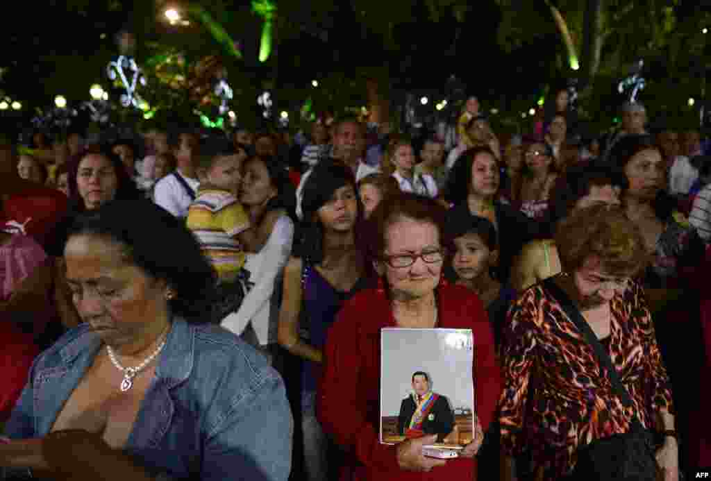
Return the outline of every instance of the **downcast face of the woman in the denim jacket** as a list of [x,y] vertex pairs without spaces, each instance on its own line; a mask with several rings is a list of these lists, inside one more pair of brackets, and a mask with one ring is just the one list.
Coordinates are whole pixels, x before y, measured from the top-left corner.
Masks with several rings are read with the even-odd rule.
[[124,249],[105,237],[69,238],[64,256],[77,312],[112,347],[140,340],[166,313],[166,284],[125,259]]

